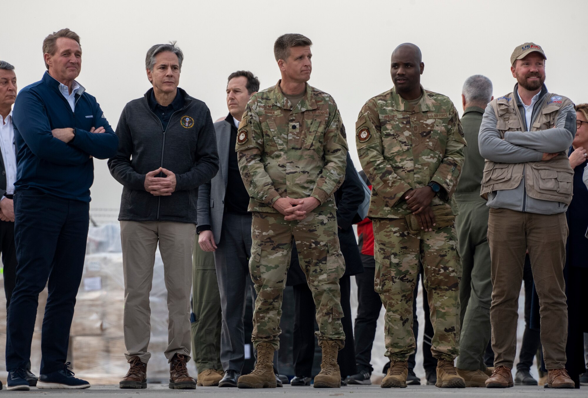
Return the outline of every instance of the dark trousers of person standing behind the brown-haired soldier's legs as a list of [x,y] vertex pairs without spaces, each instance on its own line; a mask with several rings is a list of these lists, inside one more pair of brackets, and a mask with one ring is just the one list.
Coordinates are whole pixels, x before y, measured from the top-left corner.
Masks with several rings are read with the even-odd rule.
[[[362,274],[359,274],[362,275]],[[351,321],[351,305],[349,303],[351,295],[351,279],[349,276],[343,276],[339,279],[341,291],[341,306],[343,308],[343,332],[345,332],[345,347],[339,350],[337,363],[341,377],[355,375],[357,368],[355,366],[355,347],[353,345],[353,325]],[[309,309],[315,308],[315,301],[308,285],[300,284],[292,286],[295,300],[294,315],[294,339],[293,339],[293,357],[294,372],[296,376],[314,376],[312,375],[312,362],[315,359],[315,311]]]

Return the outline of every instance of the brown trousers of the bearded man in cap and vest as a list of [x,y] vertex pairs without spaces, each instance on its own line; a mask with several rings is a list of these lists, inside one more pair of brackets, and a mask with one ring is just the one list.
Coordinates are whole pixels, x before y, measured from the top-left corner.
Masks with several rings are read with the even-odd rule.
[[563,266],[568,229],[566,214],[533,214],[490,208],[488,242],[492,257],[492,349],[494,366],[513,368],[516,326],[525,252],[541,316],[541,343],[547,369],[566,365],[567,305]]

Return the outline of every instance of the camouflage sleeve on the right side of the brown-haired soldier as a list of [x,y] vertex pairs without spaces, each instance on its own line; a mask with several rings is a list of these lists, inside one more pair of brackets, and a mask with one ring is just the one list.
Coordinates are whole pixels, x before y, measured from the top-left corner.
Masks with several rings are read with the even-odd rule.
[[325,166],[320,171],[312,194],[310,194],[318,199],[320,204],[323,204],[343,183],[347,164],[345,126],[343,126],[341,115],[336,106],[335,112],[329,112],[329,114],[331,116],[327,120],[328,126],[325,129],[323,141]]

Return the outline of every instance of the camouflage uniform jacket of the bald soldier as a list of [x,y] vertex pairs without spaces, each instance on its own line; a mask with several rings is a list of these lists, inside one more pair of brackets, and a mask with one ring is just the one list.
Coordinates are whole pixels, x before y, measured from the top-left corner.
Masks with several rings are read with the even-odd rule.
[[410,210],[402,194],[430,181],[443,187],[432,204],[449,202],[458,214],[452,195],[465,157],[462,126],[448,97],[420,88],[414,107],[392,88],[359,112],[356,143],[373,187],[370,217],[405,217]]

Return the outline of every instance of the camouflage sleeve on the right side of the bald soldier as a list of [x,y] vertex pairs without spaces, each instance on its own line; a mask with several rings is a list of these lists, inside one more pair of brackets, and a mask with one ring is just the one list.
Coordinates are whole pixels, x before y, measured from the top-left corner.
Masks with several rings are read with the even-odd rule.
[[463,162],[465,161],[466,140],[463,137],[462,123],[457,116],[457,110],[453,107],[452,117],[446,125],[447,145],[445,155],[437,171],[433,174],[431,181],[441,185],[445,192],[439,191],[442,200],[450,200],[457,188],[459,176],[462,173]]

